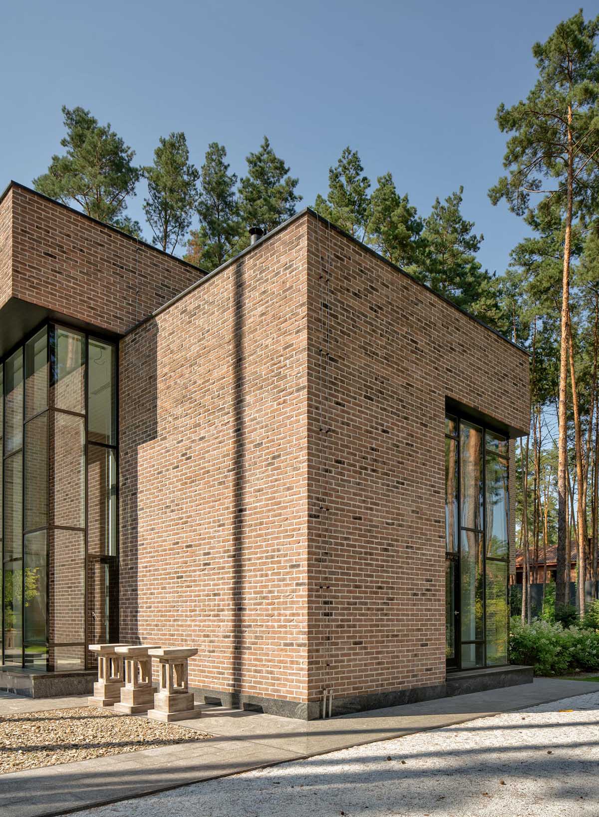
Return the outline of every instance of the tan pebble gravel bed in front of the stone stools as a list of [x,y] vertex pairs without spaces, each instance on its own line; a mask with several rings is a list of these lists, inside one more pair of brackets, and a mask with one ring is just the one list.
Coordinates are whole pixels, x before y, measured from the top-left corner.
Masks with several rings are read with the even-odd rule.
[[0,775],[208,737],[96,707],[19,712],[0,717]]

